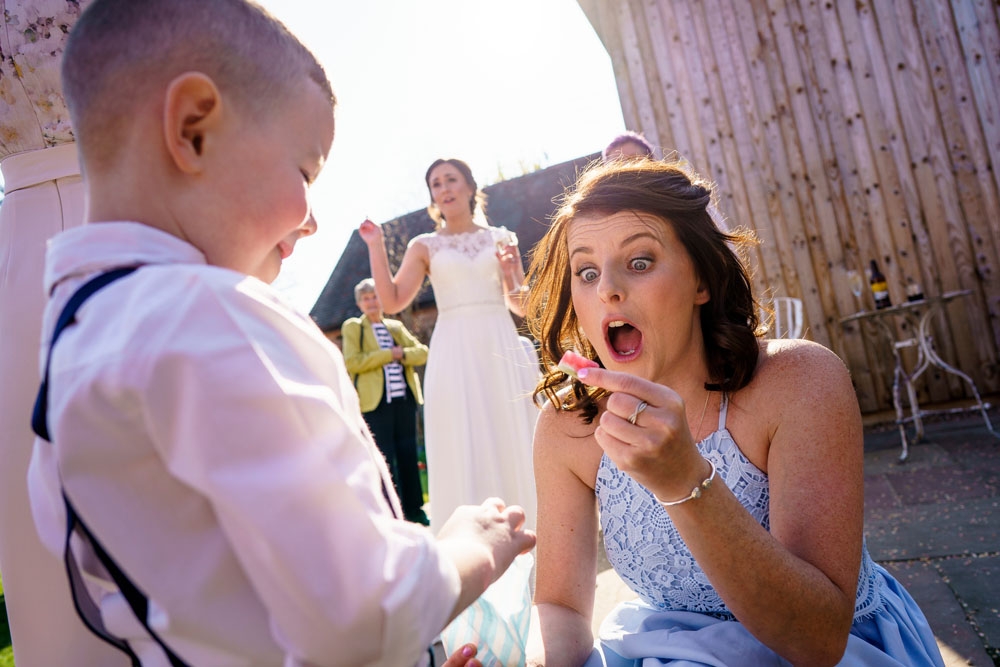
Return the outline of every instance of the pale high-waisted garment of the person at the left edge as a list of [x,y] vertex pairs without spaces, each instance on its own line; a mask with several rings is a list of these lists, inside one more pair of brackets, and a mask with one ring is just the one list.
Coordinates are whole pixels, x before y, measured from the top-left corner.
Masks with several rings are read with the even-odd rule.
[[0,168],[7,187],[0,204],[0,572],[14,659],[27,667],[126,665],[77,618],[62,561],[38,541],[28,504],[45,242],[83,221],[76,147],[19,153]]

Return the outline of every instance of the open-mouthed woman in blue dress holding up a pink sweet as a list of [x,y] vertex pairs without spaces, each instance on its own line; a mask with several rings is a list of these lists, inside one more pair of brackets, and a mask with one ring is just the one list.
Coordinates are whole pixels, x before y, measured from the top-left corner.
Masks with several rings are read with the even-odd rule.
[[[553,368],[535,434],[529,665],[942,665],[863,539],[847,369],[764,340],[711,188],[677,164],[585,173],[533,255],[529,322]],[[598,522],[638,595],[591,633]],[[567,567],[572,563],[572,567]]]

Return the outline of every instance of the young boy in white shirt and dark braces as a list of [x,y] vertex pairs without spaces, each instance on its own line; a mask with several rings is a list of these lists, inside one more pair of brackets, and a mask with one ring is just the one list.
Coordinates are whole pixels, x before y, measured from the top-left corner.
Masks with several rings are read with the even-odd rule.
[[81,285],[138,269],[53,347],[43,541],[75,511],[70,570],[143,665],[417,663],[534,535],[497,499],[437,540],[397,518],[342,357],[258,280],[316,229],[322,68],[244,0],[96,0],[63,80],[87,224],[49,247],[46,343]]

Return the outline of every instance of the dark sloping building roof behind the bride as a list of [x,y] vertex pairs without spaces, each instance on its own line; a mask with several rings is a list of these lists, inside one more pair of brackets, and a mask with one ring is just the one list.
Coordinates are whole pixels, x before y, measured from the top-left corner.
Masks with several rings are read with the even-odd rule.
[[[531,250],[548,229],[549,217],[556,209],[554,200],[576,182],[584,167],[599,158],[600,153],[585,155],[483,188],[488,197],[486,212],[490,224],[517,234],[525,266],[531,261]],[[382,230],[389,266],[395,272],[410,239],[434,231],[434,221],[426,209],[421,209],[383,223]],[[354,286],[369,276],[368,248],[355,229],[309,313],[320,329],[338,330],[348,317],[361,314],[354,303]],[[420,309],[433,303],[434,291],[425,280],[414,306]]]

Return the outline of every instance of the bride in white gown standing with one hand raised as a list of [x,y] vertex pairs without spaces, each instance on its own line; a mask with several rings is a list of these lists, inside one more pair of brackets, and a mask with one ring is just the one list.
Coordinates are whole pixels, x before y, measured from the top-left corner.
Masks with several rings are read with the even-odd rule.
[[408,306],[425,277],[434,288],[438,317],[424,374],[431,529],[488,496],[521,505],[533,528],[531,394],[539,371],[508,312],[524,314],[527,291],[516,236],[485,220],[485,196],[462,160],[436,160],[425,181],[437,228],[410,241],[395,275],[381,227],[365,220],[358,232],[387,313]]

